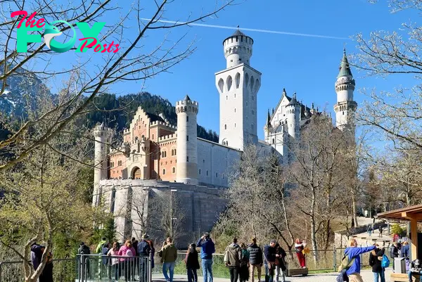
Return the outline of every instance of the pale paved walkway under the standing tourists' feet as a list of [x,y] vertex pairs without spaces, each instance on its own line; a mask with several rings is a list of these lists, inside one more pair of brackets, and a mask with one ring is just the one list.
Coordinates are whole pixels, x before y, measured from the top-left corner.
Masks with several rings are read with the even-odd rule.
[[[392,269],[385,270],[385,281],[390,281],[390,274]],[[228,271],[227,271],[228,272]],[[373,274],[370,269],[362,270],[361,272],[364,282],[372,282]],[[309,274],[308,276],[295,276],[295,277],[286,277],[286,282],[335,282],[335,278],[338,276],[338,273],[324,273],[324,274]],[[264,280],[264,276],[261,278]],[[227,278],[214,278],[213,282],[230,282],[230,279]],[[165,279],[162,275],[154,274],[153,281],[165,282]],[[175,275],[174,282],[184,282],[188,281],[186,275]],[[256,281],[256,279],[255,279]],[[202,276],[198,277],[198,282],[203,282]]]

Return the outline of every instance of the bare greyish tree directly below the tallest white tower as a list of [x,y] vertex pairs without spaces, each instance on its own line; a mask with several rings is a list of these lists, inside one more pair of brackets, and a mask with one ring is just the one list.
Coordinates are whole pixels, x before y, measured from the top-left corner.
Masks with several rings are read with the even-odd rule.
[[276,155],[248,146],[230,178],[229,208],[220,217],[217,230],[235,230],[233,235],[243,240],[279,237],[290,250],[294,236],[286,203],[288,186]]

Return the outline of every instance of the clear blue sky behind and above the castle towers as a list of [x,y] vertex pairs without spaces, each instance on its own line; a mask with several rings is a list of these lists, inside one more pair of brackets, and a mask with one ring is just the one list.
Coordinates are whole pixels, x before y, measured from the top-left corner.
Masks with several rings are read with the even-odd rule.
[[[150,1],[143,1],[146,2]],[[211,0],[175,1],[169,6],[166,20],[186,20],[188,12],[200,11],[203,2],[215,4]],[[362,32],[367,37],[371,31],[399,30],[401,23],[409,21],[409,13],[391,14],[388,4],[385,1],[379,2],[246,0],[226,8],[217,18],[207,19],[205,23],[232,27],[240,25],[241,30],[242,27],[247,27],[333,37],[351,37]],[[152,7],[143,8],[146,10],[141,16],[148,18],[148,11]],[[210,6],[205,6],[206,8]],[[172,103],[188,94],[200,105],[198,124],[219,132],[219,94],[215,88],[214,74],[225,68],[222,41],[233,32],[234,30],[210,27],[180,27],[171,30],[170,39],[186,34],[179,49],[195,40],[197,50],[190,58],[172,68],[172,73],[149,79],[143,90],[168,98]],[[343,44],[346,44],[347,53],[355,53],[356,42],[262,32],[245,31],[245,34],[255,41],[250,65],[262,72],[257,115],[261,139],[267,109],[276,106],[283,88],[290,95],[296,91],[299,101],[307,105],[314,102],[320,109],[326,108],[333,113],[336,102],[334,82],[343,56]],[[162,37],[163,32],[151,32],[144,42],[148,46],[161,41]],[[400,77],[364,78],[364,73],[359,73],[356,69],[352,69],[352,72],[356,79],[355,100],[358,104],[365,98],[359,94],[359,88],[376,87],[388,90],[403,82]],[[112,90],[119,94],[135,93],[140,90],[140,86],[141,83],[133,82],[116,84]]]

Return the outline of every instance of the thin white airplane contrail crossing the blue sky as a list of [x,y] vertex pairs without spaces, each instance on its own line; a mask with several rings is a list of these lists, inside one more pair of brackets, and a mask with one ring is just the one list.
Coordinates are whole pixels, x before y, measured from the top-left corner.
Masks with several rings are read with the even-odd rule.
[[[141,18],[141,20],[151,20],[151,18]],[[226,29],[226,30],[237,30],[238,27],[229,27],[226,25],[207,25],[204,23],[186,23],[186,22],[179,22],[179,21],[175,21],[175,20],[156,20],[156,22],[159,23],[172,23],[175,25],[192,25],[192,26],[196,26],[196,27],[213,27],[213,28],[222,28],[222,29]],[[298,32],[280,32],[280,31],[276,31],[276,30],[260,30],[260,29],[256,29],[256,28],[246,28],[246,27],[242,27],[242,30],[247,30],[250,32],[264,32],[264,33],[273,33],[273,34],[285,34],[285,35],[293,35],[293,36],[299,36],[299,37],[318,37],[318,38],[324,38],[324,39],[340,39],[340,40],[351,40],[350,38],[347,37],[331,37],[328,35],[319,35],[319,34],[307,34],[307,33],[298,33]]]

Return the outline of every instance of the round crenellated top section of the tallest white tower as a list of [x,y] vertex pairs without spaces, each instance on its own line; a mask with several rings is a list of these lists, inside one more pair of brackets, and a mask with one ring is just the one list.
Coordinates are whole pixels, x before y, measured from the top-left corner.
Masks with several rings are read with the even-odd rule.
[[253,39],[245,35],[240,30],[227,37],[223,41],[224,57],[226,57],[227,68],[245,63],[249,65],[252,56]]

